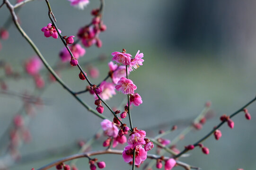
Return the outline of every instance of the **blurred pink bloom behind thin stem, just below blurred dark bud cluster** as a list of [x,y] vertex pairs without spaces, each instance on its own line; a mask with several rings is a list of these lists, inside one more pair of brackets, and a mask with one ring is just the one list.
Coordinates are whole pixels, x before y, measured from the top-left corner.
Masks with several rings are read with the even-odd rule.
[[[85,49],[82,48],[80,44],[70,45],[68,47],[76,59],[79,59],[79,57],[82,57],[86,52]],[[71,55],[66,47],[62,48],[59,56],[62,59],[62,62],[70,61],[71,59]]]

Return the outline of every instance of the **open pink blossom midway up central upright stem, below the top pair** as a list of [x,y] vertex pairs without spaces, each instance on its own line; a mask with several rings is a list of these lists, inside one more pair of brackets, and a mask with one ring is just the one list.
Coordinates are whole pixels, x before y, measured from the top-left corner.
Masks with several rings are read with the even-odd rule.
[[134,90],[137,89],[136,85],[133,84],[132,80],[125,77],[121,77],[115,86],[117,91],[121,91],[124,94],[133,94]]

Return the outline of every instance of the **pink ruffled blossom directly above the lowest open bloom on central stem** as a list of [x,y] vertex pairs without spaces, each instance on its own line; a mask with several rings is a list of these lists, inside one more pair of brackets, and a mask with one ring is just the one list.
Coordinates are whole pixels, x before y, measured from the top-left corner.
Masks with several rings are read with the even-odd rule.
[[133,129],[130,137],[128,139],[128,144],[134,148],[138,144],[146,144],[144,137],[146,136],[146,132],[144,130],[139,130],[136,127]]

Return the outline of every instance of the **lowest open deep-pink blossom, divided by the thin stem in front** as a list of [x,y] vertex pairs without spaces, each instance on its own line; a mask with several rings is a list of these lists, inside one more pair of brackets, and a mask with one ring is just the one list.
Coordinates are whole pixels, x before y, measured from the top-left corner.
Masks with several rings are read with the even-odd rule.
[[141,146],[141,144],[137,145],[135,148],[132,148],[132,145],[125,146],[123,151],[123,159],[126,163],[132,161],[133,150],[135,149],[135,165],[140,165],[141,161],[145,161],[147,159],[147,151]]

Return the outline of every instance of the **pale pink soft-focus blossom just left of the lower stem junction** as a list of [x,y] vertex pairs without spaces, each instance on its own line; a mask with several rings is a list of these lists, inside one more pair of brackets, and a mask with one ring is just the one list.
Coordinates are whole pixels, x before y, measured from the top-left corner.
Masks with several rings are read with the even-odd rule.
[[116,137],[118,135],[118,128],[110,120],[104,119],[100,124],[107,136]]

